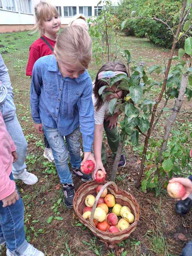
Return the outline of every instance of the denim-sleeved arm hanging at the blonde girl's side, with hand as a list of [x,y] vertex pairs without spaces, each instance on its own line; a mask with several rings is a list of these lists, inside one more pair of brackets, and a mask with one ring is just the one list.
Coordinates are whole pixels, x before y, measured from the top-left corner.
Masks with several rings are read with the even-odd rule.
[[41,61],[37,61],[33,68],[30,90],[31,116],[35,123],[34,126],[37,133],[43,133],[41,118],[39,115],[39,96],[41,94],[41,84]]

